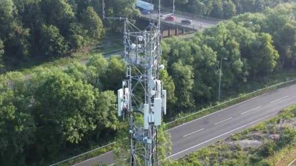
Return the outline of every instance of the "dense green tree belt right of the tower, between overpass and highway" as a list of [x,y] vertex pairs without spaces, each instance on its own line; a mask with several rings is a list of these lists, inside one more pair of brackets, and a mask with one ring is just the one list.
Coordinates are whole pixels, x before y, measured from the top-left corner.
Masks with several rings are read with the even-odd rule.
[[224,91],[240,91],[249,80],[295,70],[295,9],[283,4],[264,14],[245,13],[220,22],[189,40],[163,40],[162,60],[172,79],[164,86],[174,94],[168,100],[170,113],[217,100],[221,61]]

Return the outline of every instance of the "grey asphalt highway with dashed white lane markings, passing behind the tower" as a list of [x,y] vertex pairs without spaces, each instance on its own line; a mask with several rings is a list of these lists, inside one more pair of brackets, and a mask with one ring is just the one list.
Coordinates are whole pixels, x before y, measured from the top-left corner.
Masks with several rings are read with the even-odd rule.
[[[296,85],[243,101],[172,128],[168,132],[171,133],[173,146],[171,155],[167,158],[176,160],[192,151],[276,116],[280,110],[293,104],[296,104]],[[91,166],[95,163],[105,163],[112,166],[114,165],[113,161],[112,152],[108,152],[74,166]]]

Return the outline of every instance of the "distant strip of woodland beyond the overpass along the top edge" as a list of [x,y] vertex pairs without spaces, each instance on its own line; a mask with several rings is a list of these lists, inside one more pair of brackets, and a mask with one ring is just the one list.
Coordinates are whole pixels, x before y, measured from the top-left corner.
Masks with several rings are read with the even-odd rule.
[[[175,0],[175,9],[186,13],[229,19],[246,12],[263,12],[279,3],[292,0]],[[156,3],[157,0],[152,0]],[[165,8],[173,8],[173,0],[162,0]]]

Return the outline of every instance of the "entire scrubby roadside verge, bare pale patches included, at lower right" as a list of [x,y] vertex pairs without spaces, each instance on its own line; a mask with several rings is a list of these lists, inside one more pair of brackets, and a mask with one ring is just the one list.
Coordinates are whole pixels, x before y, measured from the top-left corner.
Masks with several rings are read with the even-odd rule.
[[270,120],[162,165],[287,166],[290,158],[286,160],[286,157],[293,156],[296,151],[295,124],[296,105],[282,110]]

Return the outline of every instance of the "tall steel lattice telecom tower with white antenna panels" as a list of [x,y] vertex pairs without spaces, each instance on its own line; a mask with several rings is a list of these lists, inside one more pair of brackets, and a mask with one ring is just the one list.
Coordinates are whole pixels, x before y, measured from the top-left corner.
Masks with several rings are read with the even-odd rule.
[[[130,166],[158,166],[157,127],[166,114],[166,90],[158,78],[159,70],[164,68],[159,65],[160,0],[157,18],[150,15],[149,25],[143,31],[128,18],[105,17],[104,0],[103,18],[124,21],[123,58],[127,79],[118,90],[118,116],[129,117]],[[143,117],[144,123],[134,118],[137,114]]]

